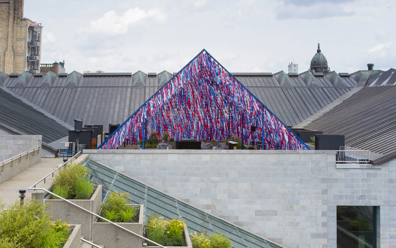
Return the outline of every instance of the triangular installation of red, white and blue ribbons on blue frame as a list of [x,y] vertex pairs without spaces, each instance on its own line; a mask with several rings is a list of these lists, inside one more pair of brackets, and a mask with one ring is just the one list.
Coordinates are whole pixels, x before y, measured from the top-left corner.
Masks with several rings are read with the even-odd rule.
[[[147,132],[145,132],[145,123]],[[256,126],[256,132],[250,132]],[[264,129],[264,130],[263,130]],[[309,150],[245,86],[202,50],[150,97],[97,149],[137,144],[157,131],[175,140],[264,139],[266,149]],[[263,132],[264,131],[264,132]]]

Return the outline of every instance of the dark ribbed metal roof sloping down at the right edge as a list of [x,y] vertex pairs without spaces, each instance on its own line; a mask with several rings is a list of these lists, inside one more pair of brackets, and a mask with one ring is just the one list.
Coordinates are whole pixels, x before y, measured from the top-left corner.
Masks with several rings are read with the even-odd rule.
[[365,78],[366,87],[305,128],[343,134],[347,146],[370,150],[375,160],[396,151],[396,85],[369,86],[376,78]]

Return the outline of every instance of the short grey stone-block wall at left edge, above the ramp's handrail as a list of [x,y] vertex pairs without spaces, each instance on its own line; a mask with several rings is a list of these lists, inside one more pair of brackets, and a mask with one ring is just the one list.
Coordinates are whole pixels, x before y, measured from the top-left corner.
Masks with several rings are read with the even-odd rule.
[[38,147],[41,141],[41,135],[0,135],[0,161]]

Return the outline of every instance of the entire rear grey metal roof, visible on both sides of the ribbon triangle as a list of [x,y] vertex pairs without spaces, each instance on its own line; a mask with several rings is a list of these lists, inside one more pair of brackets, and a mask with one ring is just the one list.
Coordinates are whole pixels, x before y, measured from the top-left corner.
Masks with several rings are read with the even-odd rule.
[[[43,76],[24,73],[7,77],[4,85],[61,120],[74,125],[74,118],[84,124],[121,124],[160,86],[171,78],[167,71],[158,74],[71,72],[68,76],[47,72]],[[234,73],[254,95],[287,126],[295,126],[344,93],[356,82],[331,72],[314,76],[309,71],[289,76],[272,73]]]

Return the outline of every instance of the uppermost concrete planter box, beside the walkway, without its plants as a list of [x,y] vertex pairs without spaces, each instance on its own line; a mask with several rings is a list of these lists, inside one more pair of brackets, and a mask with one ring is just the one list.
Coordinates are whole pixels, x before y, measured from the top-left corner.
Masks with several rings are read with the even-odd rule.
[[[95,192],[93,192],[89,200],[70,200],[70,202],[95,214],[99,213],[102,203],[102,185],[95,185],[94,189]],[[62,221],[66,221],[66,223],[80,224],[81,235],[92,240],[92,223],[96,217],[73,206],[69,202],[65,202],[64,200],[52,200],[49,199],[50,197],[51,195],[46,197],[45,203],[50,204],[48,210],[52,215],[51,220],[61,219]]]

